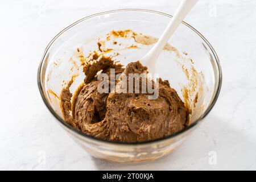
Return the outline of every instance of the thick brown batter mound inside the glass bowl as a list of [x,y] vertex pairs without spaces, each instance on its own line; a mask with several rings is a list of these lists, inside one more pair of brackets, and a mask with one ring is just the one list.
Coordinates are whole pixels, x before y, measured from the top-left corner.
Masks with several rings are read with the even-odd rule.
[[127,75],[146,72],[147,68],[139,61],[123,68],[109,57],[99,58],[97,54],[93,55],[92,61],[84,65],[84,84],[77,89],[72,102],[69,92],[72,81],[61,92],[61,108],[70,125],[94,137],[121,142],[154,140],[184,129],[187,109],[167,80],[159,79],[156,100],[148,100],[147,94],[143,93],[99,93],[98,71],[109,75],[110,68],[114,68],[115,74]]

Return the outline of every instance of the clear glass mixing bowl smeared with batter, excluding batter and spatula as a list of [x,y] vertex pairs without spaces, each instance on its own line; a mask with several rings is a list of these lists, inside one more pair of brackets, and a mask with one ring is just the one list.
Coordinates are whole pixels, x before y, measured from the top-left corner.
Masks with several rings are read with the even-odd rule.
[[[79,75],[76,76],[73,88],[71,87],[72,93],[84,79],[79,65],[73,64],[71,59],[77,48],[97,40],[100,35],[112,30],[129,29],[159,38],[171,18],[171,15],[151,10],[108,11],[71,24],[48,44],[38,70],[38,86],[43,101],[60,126],[90,155],[117,163],[158,159],[170,154],[179,146],[189,133],[199,126],[215,104],[222,80],[218,57],[204,36],[183,22],[169,41],[176,49],[172,49],[169,53],[168,51],[161,53],[156,71],[160,77],[170,81],[172,88],[177,90],[184,102],[193,107],[188,127],[166,138],[122,143],[94,138],[74,129],[64,121],[59,101],[60,92],[65,83],[71,80],[72,75]],[[122,56],[118,59],[124,65],[129,61],[139,60],[151,46],[122,52]],[[74,67],[77,69],[73,69]],[[188,88],[187,94],[185,94],[185,86]],[[189,87],[192,88],[191,92]],[[195,96],[196,93],[199,94]],[[192,101],[194,104],[191,103]]]

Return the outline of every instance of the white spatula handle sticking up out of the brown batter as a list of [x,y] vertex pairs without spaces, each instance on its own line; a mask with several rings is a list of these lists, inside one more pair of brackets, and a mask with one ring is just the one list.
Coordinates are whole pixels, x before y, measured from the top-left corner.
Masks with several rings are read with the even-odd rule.
[[174,34],[179,24],[185,18],[185,16],[189,13],[193,6],[199,0],[182,0],[178,9],[176,10],[173,18],[171,19],[170,23],[164,30],[162,36],[160,36],[158,42],[151,48],[151,50],[140,60],[143,65],[148,68],[149,73],[155,73],[155,64],[160,55],[160,52],[163,50],[166,43]]

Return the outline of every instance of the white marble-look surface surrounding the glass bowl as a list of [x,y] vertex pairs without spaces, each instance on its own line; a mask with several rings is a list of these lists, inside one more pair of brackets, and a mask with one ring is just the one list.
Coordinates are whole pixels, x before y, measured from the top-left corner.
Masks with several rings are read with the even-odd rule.
[[[84,16],[139,8],[173,14],[180,1],[92,0],[0,3],[0,169],[256,169],[256,1],[200,0],[185,19],[220,58],[220,97],[174,153],[149,164],[111,164],[83,151],[44,106],[36,73],[44,48]],[[210,165],[209,152],[217,164]],[[40,156],[46,163],[40,163]]]

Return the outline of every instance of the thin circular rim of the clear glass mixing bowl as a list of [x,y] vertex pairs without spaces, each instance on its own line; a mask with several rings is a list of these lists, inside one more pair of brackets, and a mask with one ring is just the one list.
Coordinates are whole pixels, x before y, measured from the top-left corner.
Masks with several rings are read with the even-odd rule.
[[[169,15],[169,14],[166,14],[166,13],[162,13],[160,11],[154,11],[154,10],[146,10],[146,9],[119,9],[119,10],[110,10],[110,11],[104,11],[104,12],[101,12],[101,13],[96,13],[96,14],[93,14],[93,15],[89,15],[89,16],[86,16],[85,18],[82,18],[80,20],[77,20],[75,23],[69,25],[68,27],[64,28],[62,31],[59,32],[59,34],[57,34],[52,40],[51,42],[49,42],[49,44],[47,45],[44,53],[43,53],[43,56],[42,56],[42,59],[40,61],[40,64],[39,64],[39,68],[38,68],[38,77],[37,77],[37,80],[38,80],[38,88],[39,88],[39,91],[40,91],[40,94],[43,98],[43,101],[44,101],[44,104],[46,104],[47,108],[49,109],[49,111],[52,113],[52,115],[57,119],[57,121],[59,121],[61,123],[61,125],[64,125],[64,127],[67,127],[68,130],[71,130],[73,132],[75,132],[76,134],[79,134],[81,137],[85,137],[85,138],[88,138],[88,139],[92,139],[92,140],[95,140],[95,142],[103,142],[103,143],[108,143],[108,144],[126,144],[126,145],[137,145],[137,144],[150,144],[150,143],[155,143],[155,142],[160,142],[160,141],[163,141],[163,140],[166,140],[166,139],[171,139],[171,138],[174,138],[176,137],[177,135],[180,135],[182,133],[185,133],[185,131],[188,131],[188,130],[191,130],[192,127],[195,127],[197,124],[199,124],[199,122],[201,122],[207,115],[208,113],[210,112],[210,110],[212,110],[214,104],[216,103],[217,101],[217,98],[218,98],[218,95],[220,94],[220,90],[221,90],[221,84],[222,84],[222,71],[221,71],[221,65],[220,65],[220,60],[218,59],[218,56],[216,54],[216,52],[214,51],[212,45],[208,42],[207,39],[204,38],[204,36],[202,34],[200,34],[199,31],[197,31],[195,28],[193,28],[191,25],[189,25],[188,23],[186,22],[182,22],[185,26],[187,26],[188,28],[190,28],[193,32],[195,32],[197,35],[200,36],[201,39],[203,39],[204,43],[208,45],[208,47],[210,48],[210,51],[212,51],[213,53],[213,56],[214,56],[214,61],[215,63],[217,64],[217,69],[218,69],[218,83],[217,83],[217,90],[213,96],[213,100],[212,102],[209,104],[208,108],[204,111],[203,114],[201,114],[200,118],[198,118],[196,121],[194,121],[191,125],[189,125],[188,127],[186,127],[185,129],[175,133],[175,134],[172,134],[172,135],[169,135],[167,137],[164,137],[164,138],[159,138],[159,139],[155,139],[155,140],[148,140],[148,141],[144,141],[144,142],[134,142],[134,143],[129,143],[129,142],[116,142],[116,141],[110,141],[110,140],[104,140],[104,139],[100,139],[100,138],[96,138],[96,137],[93,137],[91,135],[88,135],[86,133],[82,133],[82,131],[79,131],[75,128],[73,128],[72,126],[68,125],[67,122],[65,122],[61,117],[59,117],[59,115],[57,115],[55,113],[55,111],[52,109],[52,107],[48,104],[47,102],[47,99],[46,97],[44,96],[44,93],[43,93],[43,86],[42,86],[42,82],[41,82],[41,72],[42,72],[42,66],[43,66],[43,63],[45,61],[45,58],[46,58],[46,55],[47,55],[47,52],[49,50],[49,48],[52,46],[52,44],[55,42],[55,40],[61,35],[63,34],[65,31],[67,31],[69,28],[72,28],[73,26],[75,26],[76,24],[84,21],[84,20],[87,20],[89,18],[93,18],[95,16],[99,16],[99,15],[105,15],[105,14],[112,14],[112,13],[122,13],[122,12],[131,12],[131,11],[134,11],[134,12],[141,12],[141,13],[152,13],[152,14],[158,14],[158,15],[163,15],[163,16],[167,16],[168,18],[172,18],[172,15]],[[216,83],[215,83],[216,84]]]

